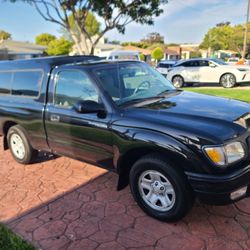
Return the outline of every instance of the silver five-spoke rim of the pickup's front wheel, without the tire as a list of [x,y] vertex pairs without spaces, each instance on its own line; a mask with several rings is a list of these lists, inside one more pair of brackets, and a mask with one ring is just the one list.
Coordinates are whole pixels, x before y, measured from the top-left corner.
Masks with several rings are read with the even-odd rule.
[[143,172],[138,179],[142,199],[153,209],[166,212],[175,204],[175,190],[166,176],[155,170]]

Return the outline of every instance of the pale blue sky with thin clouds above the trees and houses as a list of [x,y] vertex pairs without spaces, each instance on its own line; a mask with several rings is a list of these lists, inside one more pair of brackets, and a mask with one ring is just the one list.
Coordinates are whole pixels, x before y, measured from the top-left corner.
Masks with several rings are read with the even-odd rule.
[[[140,41],[150,32],[159,32],[166,43],[200,43],[216,23],[244,23],[247,0],[169,0],[163,9],[153,26],[131,23],[125,35],[112,30],[106,37],[110,41]],[[28,4],[0,0],[0,30],[11,33],[13,40],[34,42],[44,32],[60,36],[59,29]]]

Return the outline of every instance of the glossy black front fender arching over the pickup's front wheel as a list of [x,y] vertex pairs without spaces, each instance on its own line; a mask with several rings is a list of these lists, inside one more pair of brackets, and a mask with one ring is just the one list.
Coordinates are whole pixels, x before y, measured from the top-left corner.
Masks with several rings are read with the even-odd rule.
[[[152,130],[138,128],[113,128],[114,166],[120,176],[118,189],[128,183],[132,165],[141,157],[159,153],[183,172],[204,172],[206,166],[199,157],[183,143],[176,139]],[[203,169],[204,168],[204,169]]]

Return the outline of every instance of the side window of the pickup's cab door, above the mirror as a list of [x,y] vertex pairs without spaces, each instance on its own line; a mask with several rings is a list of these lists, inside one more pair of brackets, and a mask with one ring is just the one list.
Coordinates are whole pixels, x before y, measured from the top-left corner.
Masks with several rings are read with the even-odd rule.
[[54,103],[71,108],[80,100],[98,102],[98,93],[89,77],[81,71],[61,71],[57,75]]

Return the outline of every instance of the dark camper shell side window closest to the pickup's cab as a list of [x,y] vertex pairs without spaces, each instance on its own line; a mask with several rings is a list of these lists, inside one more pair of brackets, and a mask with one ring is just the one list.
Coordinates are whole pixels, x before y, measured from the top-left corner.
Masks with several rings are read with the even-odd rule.
[[42,71],[17,71],[13,74],[13,95],[38,96],[43,77]]

